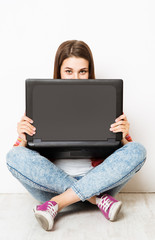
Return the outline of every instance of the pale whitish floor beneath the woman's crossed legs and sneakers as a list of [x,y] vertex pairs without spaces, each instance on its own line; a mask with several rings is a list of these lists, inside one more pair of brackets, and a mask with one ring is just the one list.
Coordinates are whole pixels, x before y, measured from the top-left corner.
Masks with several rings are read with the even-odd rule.
[[116,222],[107,221],[97,206],[76,203],[63,209],[51,232],[36,221],[38,202],[29,194],[0,194],[0,240],[154,240],[155,194],[120,193]]

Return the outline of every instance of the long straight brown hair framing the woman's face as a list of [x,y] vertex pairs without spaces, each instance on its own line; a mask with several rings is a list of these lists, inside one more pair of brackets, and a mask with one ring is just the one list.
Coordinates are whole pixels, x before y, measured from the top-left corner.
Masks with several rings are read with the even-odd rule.
[[89,62],[89,79],[95,79],[95,72],[94,72],[94,60],[92,52],[89,46],[83,42],[78,40],[69,40],[63,42],[55,55],[55,62],[54,62],[54,79],[60,79],[60,68],[63,61],[69,57],[80,57],[88,60]]

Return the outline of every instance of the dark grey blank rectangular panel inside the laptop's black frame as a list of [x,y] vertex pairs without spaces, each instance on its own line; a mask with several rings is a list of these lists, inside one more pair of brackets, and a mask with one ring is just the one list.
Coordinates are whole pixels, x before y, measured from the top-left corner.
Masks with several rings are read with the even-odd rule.
[[113,86],[36,85],[33,89],[34,138],[42,141],[107,140],[116,116]]

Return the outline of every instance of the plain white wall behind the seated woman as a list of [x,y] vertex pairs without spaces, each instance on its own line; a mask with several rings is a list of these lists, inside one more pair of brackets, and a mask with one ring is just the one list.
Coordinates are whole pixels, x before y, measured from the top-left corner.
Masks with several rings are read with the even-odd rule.
[[5,156],[25,111],[25,79],[52,78],[55,52],[68,39],[92,49],[97,78],[124,79],[124,112],[147,162],[124,191],[155,191],[154,0],[0,1],[0,192],[25,192]]

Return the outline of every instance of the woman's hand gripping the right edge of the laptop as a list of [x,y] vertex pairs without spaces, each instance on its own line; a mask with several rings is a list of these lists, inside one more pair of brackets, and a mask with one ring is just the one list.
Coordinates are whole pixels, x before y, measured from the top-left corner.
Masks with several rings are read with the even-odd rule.
[[126,118],[126,116],[123,114],[115,119],[115,123],[111,124],[110,131],[117,133],[122,132],[123,138],[129,133],[129,127],[130,124]]

